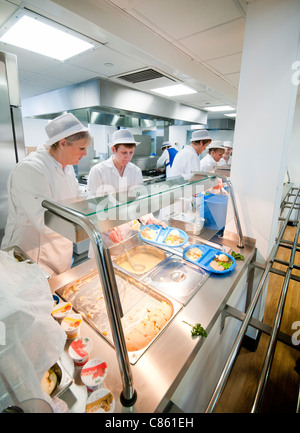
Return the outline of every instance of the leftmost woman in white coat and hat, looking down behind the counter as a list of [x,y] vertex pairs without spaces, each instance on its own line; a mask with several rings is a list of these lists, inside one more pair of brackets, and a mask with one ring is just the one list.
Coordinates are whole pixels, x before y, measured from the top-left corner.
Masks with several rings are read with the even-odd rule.
[[1,248],[19,246],[50,276],[71,267],[73,243],[44,224],[44,199],[59,202],[80,196],[73,165],[91,144],[87,128],[71,113],[45,127],[46,144],[31,152],[8,179],[8,218]]

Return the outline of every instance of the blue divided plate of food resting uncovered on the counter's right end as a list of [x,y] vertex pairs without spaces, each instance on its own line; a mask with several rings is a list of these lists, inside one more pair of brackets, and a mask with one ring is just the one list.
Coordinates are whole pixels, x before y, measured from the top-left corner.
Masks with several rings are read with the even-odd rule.
[[236,266],[236,261],[230,254],[202,244],[189,245],[183,251],[183,258],[216,274],[226,274]]

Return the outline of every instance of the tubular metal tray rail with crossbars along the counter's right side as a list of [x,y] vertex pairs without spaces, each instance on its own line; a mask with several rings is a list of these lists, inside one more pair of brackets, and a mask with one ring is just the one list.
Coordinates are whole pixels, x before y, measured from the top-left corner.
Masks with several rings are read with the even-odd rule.
[[[238,351],[241,347],[242,340],[243,340],[243,337],[247,331],[248,326],[251,325],[253,328],[255,328],[261,332],[264,332],[270,336],[269,345],[268,345],[268,348],[266,351],[266,356],[264,359],[264,363],[263,363],[260,379],[258,382],[257,391],[256,391],[256,395],[254,398],[251,413],[258,412],[259,408],[261,406],[263,394],[264,394],[264,391],[265,391],[265,388],[267,385],[267,381],[268,381],[271,366],[272,366],[272,361],[273,361],[277,341],[281,341],[284,344],[287,344],[287,345],[293,347],[294,349],[300,350],[299,345],[295,346],[292,344],[291,336],[284,334],[284,333],[280,332],[280,330],[279,330],[280,324],[282,321],[284,304],[285,304],[285,300],[286,300],[286,296],[287,296],[287,290],[288,290],[289,282],[290,282],[290,280],[295,280],[297,282],[300,282],[300,277],[298,277],[292,273],[293,269],[297,269],[297,270],[300,269],[300,266],[298,266],[294,263],[295,254],[296,254],[296,252],[300,251],[300,244],[297,242],[298,237],[299,237],[299,233],[300,233],[300,219],[299,218],[298,218],[298,221],[294,221],[294,223],[297,225],[294,241],[290,242],[290,241],[285,241],[283,239],[285,229],[286,229],[289,221],[291,220],[290,217],[291,217],[292,212],[295,211],[295,209],[296,210],[299,209],[299,206],[297,204],[299,197],[300,197],[299,188],[292,188],[286,197],[288,197],[288,199],[285,198],[283,200],[282,207],[288,208],[289,211],[288,211],[288,214],[286,215],[285,218],[282,218],[282,217],[279,218],[281,221],[283,221],[283,225],[280,229],[278,238],[277,238],[277,240],[276,240],[276,242],[272,248],[272,251],[271,251],[271,253],[270,253],[270,255],[266,261],[265,266],[262,266],[261,264],[255,263],[255,262],[252,263],[253,267],[257,267],[257,268],[262,269],[263,274],[261,276],[258,287],[256,289],[254,296],[253,296],[253,299],[246,310],[246,313],[243,313],[237,309],[234,309],[234,308],[230,307],[229,305],[226,305],[224,307],[224,311],[222,313],[223,314],[223,321],[226,319],[226,317],[234,317],[234,318],[242,321],[242,325],[241,325],[240,331],[237,335],[237,338],[233,344],[232,350],[229,354],[229,357],[227,359],[225,367],[224,367],[224,369],[220,375],[218,384],[217,384],[217,386],[213,392],[213,395],[211,397],[211,400],[210,400],[210,402],[206,408],[206,412],[213,412],[213,410],[214,410],[214,408],[215,408],[215,406],[216,406],[216,404],[217,404],[217,402],[221,396],[221,393],[222,393],[224,387],[226,386],[226,382],[227,382],[229,375],[230,375],[230,372],[233,368],[234,362],[236,360]],[[291,197],[294,197],[293,201],[290,201]],[[282,209],[282,211],[283,211],[283,209]],[[299,214],[298,214],[298,217],[299,217]],[[283,261],[276,259],[276,254],[277,254],[279,247],[284,247],[284,248],[288,248],[291,250],[289,262],[283,262]],[[281,270],[276,269],[275,267],[273,267],[274,263],[280,263],[280,264],[286,265],[287,270],[281,271]],[[263,292],[263,288],[265,286],[265,283],[267,281],[267,278],[268,278],[268,275],[270,272],[279,274],[279,275],[284,277],[284,282],[283,282],[282,289],[281,289],[280,299],[279,299],[279,302],[277,305],[277,311],[276,311],[276,315],[275,315],[272,327],[264,324],[263,322],[261,322],[259,320],[252,318],[254,309],[255,309],[256,304],[257,304],[257,302],[258,302],[258,300],[259,300],[259,298]],[[299,410],[300,410],[300,388],[299,388],[299,396],[298,396],[296,411],[299,412]]]

